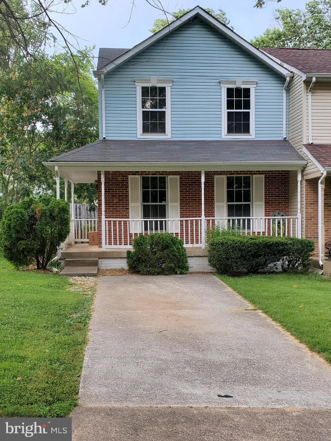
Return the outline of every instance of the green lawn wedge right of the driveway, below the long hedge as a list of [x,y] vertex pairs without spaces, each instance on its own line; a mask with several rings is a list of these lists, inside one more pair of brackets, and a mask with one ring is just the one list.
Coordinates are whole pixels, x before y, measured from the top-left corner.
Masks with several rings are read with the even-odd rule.
[[331,363],[331,280],[313,273],[218,277]]

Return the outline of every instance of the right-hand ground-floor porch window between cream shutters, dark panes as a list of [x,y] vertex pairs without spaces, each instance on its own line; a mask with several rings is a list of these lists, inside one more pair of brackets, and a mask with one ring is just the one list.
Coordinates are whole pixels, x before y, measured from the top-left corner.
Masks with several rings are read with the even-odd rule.
[[250,219],[252,211],[252,179],[251,176],[226,177],[226,202],[228,217],[232,228],[240,226],[243,229],[251,228]]

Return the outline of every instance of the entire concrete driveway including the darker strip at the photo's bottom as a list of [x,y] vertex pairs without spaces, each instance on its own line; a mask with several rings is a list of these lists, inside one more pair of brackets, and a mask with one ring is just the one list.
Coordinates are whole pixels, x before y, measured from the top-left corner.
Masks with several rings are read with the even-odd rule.
[[216,277],[100,277],[94,307],[73,441],[330,438],[330,366]]

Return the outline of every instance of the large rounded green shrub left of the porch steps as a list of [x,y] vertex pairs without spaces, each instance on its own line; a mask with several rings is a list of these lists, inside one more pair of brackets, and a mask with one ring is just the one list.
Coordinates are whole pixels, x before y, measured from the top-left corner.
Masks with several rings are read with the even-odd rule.
[[0,224],[0,250],[16,268],[36,263],[46,269],[70,232],[69,204],[51,197],[8,206]]

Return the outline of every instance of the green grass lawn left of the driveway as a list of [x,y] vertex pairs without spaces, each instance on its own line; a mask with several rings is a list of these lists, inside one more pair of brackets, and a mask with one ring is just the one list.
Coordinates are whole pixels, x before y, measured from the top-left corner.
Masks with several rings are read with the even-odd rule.
[[90,285],[0,257],[0,416],[63,417],[77,405]]

